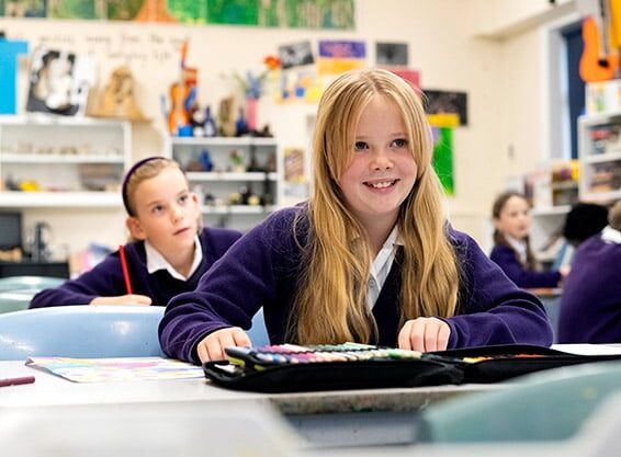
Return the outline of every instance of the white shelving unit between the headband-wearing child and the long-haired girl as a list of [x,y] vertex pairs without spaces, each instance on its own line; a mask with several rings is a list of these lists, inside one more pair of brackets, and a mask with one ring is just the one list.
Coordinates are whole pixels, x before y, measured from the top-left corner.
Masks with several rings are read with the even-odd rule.
[[[167,150],[187,171],[208,226],[247,231],[282,202],[283,161],[274,138],[170,137]],[[237,195],[251,197],[242,203]]]

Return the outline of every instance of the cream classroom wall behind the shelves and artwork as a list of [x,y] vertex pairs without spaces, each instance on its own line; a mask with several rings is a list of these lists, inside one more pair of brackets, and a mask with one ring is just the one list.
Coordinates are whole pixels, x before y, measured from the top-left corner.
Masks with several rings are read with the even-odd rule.
[[[490,31],[494,35],[516,22],[523,24],[524,18],[549,8],[543,0],[358,0],[354,32],[8,19],[0,20],[0,30],[9,38],[27,39],[32,47],[47,41],[50,47],[99,57],[102,79],[115,66],[128,62],[138,82],[139,103],[154,118],[151,125],[134,128],[135,159],[161,151],[159,94],[167,93],[177,77],[177,47],[184,38],[190,39],[188,65],[200,71],[200,100],[212,105],[235,90],[221,75],[257,71],[263,56],[275,54],[282,44],[308,39],[316,47],[321,38],[364,39],[372,66],[375,42],[406,42],[410,66],[420,70],[424,88],[467,92],[470,125],[454,132],[455,196],[449,199],[449,207],[454,226],[486,245],[494,194],[506,175],[534,168],[541,157],[540,106],[545,94],[539,80],[537,26],[504,39],[481,36],[489,37]],[[111,44],[92,44],[89,37],[105,37]],[[124,38],[139,44],[128,45]],[[262,100],[259,117],[271,123],[283,146],[305,147],[313,110]],[[512,159],[507,153],[509,146],[515,151]],[[80,212],[79,216],[60,209],[30,210],[25,222],[41,219],[52,222],[55,243],[69,244],[72,250],[92,240],[115,245],[125,238],[121,208]]]

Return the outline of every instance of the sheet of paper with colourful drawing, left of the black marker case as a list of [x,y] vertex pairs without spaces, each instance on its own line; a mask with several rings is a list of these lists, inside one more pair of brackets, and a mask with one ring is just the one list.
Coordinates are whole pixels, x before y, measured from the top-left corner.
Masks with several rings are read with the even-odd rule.
[[161,357],[29,357],[26,365],[48,370],[74,382],[181,379],[205,376],[199,366]]

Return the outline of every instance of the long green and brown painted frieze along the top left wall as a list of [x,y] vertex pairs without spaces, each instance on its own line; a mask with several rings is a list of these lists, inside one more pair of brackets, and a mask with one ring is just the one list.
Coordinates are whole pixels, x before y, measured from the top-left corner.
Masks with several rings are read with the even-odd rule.
[[0,16],[355,28],[354,0],[0,0]]

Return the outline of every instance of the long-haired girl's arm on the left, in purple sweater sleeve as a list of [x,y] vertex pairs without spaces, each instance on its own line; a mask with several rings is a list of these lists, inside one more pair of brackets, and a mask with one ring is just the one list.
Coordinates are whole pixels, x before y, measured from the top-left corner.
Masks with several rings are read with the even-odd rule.
[[[294,252],[291,219],[286,213],[284,218],[279,213],[240,238],[203,275],[194,292],[170,300],[159,325],[160,344],[167,355],[199,363],[211,352],[210,341],[219,341],[221,335],[229,343],[237,338],[245,343],[240,329],[250,328],[260,307],[279,301],[279,278],[287,270],[283,262]],[[286,312],[286,300],[281,301],[279,308],[283,309],[274,312]],[[216,335],[221,329],[227,332]],[[205,341],[212,334],[214,338]],[[222,355],[221,349],[213,346],[213,353]]]

